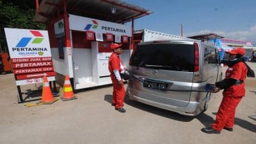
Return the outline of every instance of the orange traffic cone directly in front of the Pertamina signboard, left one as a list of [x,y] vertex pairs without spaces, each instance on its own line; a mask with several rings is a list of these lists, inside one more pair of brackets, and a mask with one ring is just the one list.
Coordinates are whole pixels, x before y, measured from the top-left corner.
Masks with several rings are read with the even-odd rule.
[[49,82],[47,77],[44,77],[44,83],[42,87],[42,100],[43,104],[52,104],[56,102],[58,99],[55,99],[51,93],[51,88],[49,87]]

